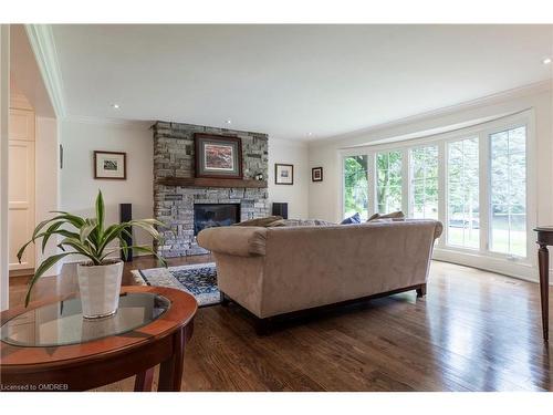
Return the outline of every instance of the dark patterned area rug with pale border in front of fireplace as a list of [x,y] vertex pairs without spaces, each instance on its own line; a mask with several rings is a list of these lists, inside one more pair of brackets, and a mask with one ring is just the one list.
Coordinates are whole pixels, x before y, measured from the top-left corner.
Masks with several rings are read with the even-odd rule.
[[171,287],[192,294],[198,305],[218,304],[217,268],[213,262],[132,271],[140,286]]

